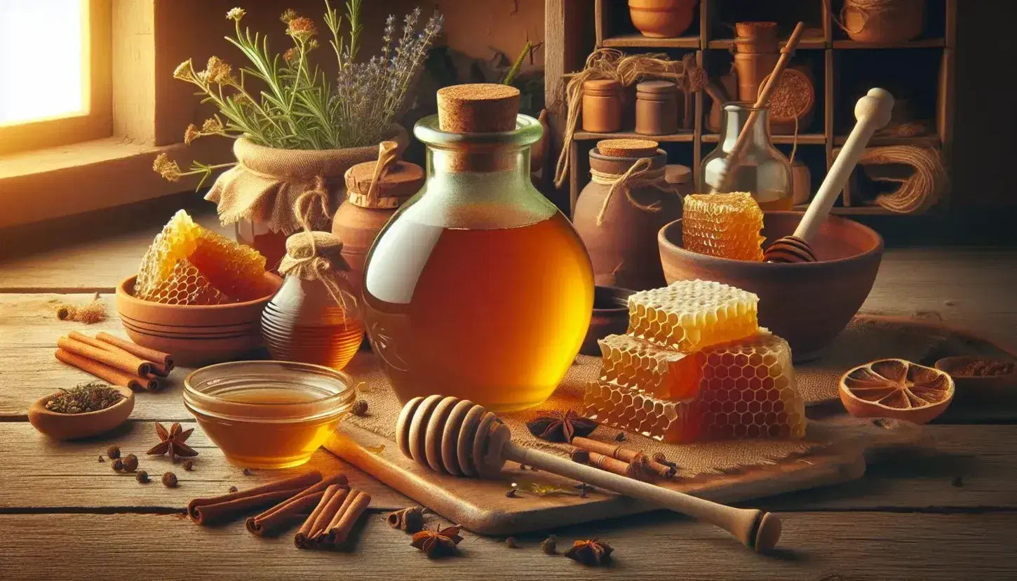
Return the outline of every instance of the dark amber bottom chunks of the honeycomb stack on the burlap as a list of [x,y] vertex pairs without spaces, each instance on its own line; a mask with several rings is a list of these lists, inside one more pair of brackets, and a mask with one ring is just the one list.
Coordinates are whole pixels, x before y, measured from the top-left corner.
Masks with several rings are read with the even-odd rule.
[[696,361],[702,376],[693,397],[667,400],[601,379],[587,386],[587,414],[672,444],[805,434],[805,407],[786,341],[763,331],[708,347]]

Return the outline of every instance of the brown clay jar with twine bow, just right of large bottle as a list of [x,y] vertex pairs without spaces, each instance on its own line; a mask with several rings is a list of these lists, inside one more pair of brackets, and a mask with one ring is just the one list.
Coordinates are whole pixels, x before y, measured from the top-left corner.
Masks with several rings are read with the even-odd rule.
[[657,232],[681,215],[681,198],[664,179],[665,164],[667,154],[649,139],[605,139],[590,151],[592,180],[580,193],[573,224],[596,284],[664,286]]

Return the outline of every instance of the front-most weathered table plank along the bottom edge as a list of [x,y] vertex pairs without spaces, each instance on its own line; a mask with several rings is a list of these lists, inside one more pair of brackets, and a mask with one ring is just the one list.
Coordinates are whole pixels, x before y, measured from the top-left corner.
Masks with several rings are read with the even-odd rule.
[[[1017,515],[784,514],[778,553],[761,556],[726,533],[666,514],[554,531],[558,545],[599,537],[611,567],[591,570],[538,547],[543,534],[503,539],[464,533],[462,556],[429,561],[376,512],[350,551],[307,551],[292,532],[257,538],[240,524],[195,526],[175,516],[0,515],[0,578],[311,579],[1013,579]],[[59,542],[56,541],[59,537]],[[41,553],[40,547],[59,546]],[[1011,548],[1007,548],[1011,547]],[[511,573],[510,573],[511,571]]]

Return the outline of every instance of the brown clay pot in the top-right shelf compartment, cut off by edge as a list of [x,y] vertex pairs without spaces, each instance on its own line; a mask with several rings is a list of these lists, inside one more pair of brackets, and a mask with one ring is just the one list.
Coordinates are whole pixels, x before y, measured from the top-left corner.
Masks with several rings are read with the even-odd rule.
[[844,0],[844,32],[859,43],[905,43],[921,34],[925,0]]

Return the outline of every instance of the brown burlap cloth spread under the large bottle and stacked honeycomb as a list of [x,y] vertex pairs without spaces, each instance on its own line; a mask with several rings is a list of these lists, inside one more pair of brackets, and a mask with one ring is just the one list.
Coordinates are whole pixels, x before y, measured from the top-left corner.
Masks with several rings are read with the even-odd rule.
[[[855,318],[829,347],[820,359],[795,365],[798,389],[805,405],[838,398],[837,386],[847,369],[884,357],[921,360],[945,337],[928,329],[907,327],[878,319]],[[360,353],[347,368],[358,382],[364,382],[361,398],[367,400],[369,415],[347,416],[346,422],[367,429],[382,438],[396,440],[396,420],[402,405],[396,399],[388,382],[370,353]],[[583,392],[587,382],[600,371],[600,358],[580,355],[554,395],[541,409],[575,409],[583,411]],[[567,455],[570,447],[544,442],[530,434],[526,422],[536,411],[502,414],[512,428],[513,440],[523,446]],[[818,425],[818,424],[817,424]],[[618,430],[598,427],[591,439],[612,442]],[[699,444],[662,444],[638,433],[625,434],[626,447],[648,454],[663,452],[678,464],[678,475],[692,478],[702,474],[734,472],[747,466],[771,464],[778,460],[816,452],[830,445],[822,429],[810,427],[803,440],[739,440]]]

